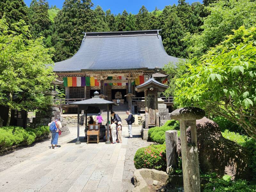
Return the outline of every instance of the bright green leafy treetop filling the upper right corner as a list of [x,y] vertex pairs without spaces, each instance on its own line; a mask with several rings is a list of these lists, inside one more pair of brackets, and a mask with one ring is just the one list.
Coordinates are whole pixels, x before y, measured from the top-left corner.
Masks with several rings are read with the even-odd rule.
[[190,38],[189,52],[201,56],[232,34],[232,29],[251,27],[256,23],[255,9],[256,3],[251,0],[220,0],[208,7],[211,14],[204,19],[204,31]]

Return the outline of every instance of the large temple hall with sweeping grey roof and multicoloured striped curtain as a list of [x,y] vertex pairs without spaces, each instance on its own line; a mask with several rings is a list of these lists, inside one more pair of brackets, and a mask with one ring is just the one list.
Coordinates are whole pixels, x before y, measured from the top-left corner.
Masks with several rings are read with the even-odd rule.
[[[179,62],[179,58],[165,52],[159,31],[84,33],[76,54],[54,66],[53,71],[65,87],[65,100],[91,98],[97,90],[106,100],[113,101],[120,92],[120,100],[133,113],[144,100],[135,86],[156,72],[162,73],[165,64]],[[161,76],[161,83],[166,81],[167,76]],[[72,105],[62,107],[65,113],[76,112]]]

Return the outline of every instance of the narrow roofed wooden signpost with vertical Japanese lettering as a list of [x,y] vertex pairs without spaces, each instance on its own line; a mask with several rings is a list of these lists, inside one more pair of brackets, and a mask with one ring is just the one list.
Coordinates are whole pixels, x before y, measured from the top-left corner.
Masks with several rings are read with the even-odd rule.
[[145,94],[145,128],[159,126],[158,113],[158,92],[164,92],[167,85],[159,83],[154,78],[148,79],[145,83],[135,87],[137,92]]

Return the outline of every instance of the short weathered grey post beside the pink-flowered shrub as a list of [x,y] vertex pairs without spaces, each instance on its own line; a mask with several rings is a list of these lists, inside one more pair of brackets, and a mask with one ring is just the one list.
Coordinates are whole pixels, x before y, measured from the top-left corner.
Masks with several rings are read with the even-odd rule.
[[172,168],[177,167],[177,143],[178,136],[176,130],[169,130],[165,132],[165,143],[166,143],[166,163],[167,167],[172,166]]

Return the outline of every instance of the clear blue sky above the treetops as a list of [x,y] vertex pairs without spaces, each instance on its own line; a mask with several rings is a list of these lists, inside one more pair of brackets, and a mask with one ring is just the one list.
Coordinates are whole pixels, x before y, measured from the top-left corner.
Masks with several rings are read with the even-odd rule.
[[[201,2],[202,0],[187,0],[188,3]],[[29,6],[31,0],[24,0],[24,2]],[[62,8],[64,0],[48,0],[49,5],[56,5],[58,8]],[[122,13],[124,9],[130,13],[137,14],[142,5],[145,5],[148,11],[153,11],[155,7],[158,9],[163,9],[166,5],[177,4],[178,0],[92,0],[94,6],[100,5],[104,11],[110,9],[112,13],[118,14]]]

